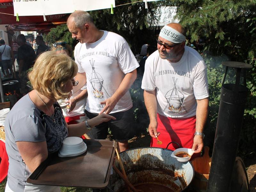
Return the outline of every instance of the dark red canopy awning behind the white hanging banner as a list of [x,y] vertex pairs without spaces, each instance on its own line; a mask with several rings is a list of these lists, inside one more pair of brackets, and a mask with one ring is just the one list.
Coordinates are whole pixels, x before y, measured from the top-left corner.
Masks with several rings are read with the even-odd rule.
[[9,24],[8,28],[15,31],[49,31],[56,25],[67,21],[69,14],[46,15],[43,16],[19,16],[20,21],[16,21],[13,15],[12,0],[0,0],[0,25]]

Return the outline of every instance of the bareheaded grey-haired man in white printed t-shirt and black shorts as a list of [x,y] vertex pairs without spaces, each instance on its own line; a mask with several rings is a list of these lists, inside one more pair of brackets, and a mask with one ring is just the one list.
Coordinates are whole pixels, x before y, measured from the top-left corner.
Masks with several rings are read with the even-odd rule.
[[92,118],[106,113],[116,117],[115,121],[93,128],[94,139],[106,139],[109,127],[120,151],[124,151],[134,133],[129,88],[136,79],[139,64],[125,39],[96,28],[89,13],[73,12],[67,25],[72,37],[79,41],[74,51],[78,65],[76,80],[81,83],[86,76],[86,115]]

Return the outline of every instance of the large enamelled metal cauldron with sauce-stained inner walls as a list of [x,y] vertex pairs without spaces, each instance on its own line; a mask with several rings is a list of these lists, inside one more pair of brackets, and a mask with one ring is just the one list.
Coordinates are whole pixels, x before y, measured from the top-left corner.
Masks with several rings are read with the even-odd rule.
[[[141,186],[149,183],[158,186],[157,190],[152,191],[159,189],[161,192],[180,192],[193,180],[194,167],[189,161],[177,161],[171,154],[171,150],[163,148],[135,148],[120,153],[120,157],[127,179],[135,188],[140,186],[138,189],[143,190]],[[117,158],[115,165],[121,170]],[[115,192],[127,190],[124,181],[115,171],[110,177],[108,188]],[[149,189],[144,189],[145,192],[150,192]]]

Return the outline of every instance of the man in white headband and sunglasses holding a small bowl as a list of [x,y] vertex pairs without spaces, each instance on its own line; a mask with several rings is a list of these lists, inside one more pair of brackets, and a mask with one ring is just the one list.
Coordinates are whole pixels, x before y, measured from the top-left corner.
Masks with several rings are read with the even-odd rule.
[[150,146],[165,148],[172,141],[195,150],[193,157],[200,156],[209,102],[204,60],[185,45],[185,29],[178,23],[165,25],[156,41],[158,50],[146,60],[141,86],[150,118]]

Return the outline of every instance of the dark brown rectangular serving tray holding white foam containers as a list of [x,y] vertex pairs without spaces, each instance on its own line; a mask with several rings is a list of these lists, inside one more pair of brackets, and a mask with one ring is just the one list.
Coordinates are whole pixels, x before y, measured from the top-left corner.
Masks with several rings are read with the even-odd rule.
[[75,157],[54,153],[40,164],[27,182],[37,185],[105,188],[117,143],[110,140],[84,140],[87,151]]

